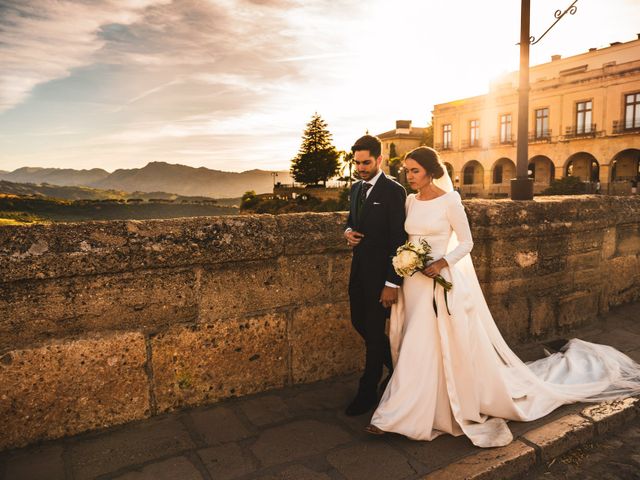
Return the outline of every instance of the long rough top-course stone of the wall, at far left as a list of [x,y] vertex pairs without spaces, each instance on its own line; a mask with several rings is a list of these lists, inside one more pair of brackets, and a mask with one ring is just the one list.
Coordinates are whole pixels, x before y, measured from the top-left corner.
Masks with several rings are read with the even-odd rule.
[[8,226],[0,282],[256,260],[283,249],[272,215]]

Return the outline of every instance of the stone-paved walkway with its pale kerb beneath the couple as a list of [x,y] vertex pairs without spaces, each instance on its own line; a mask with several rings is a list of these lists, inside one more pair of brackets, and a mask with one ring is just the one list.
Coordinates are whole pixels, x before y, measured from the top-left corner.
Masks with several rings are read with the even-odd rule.
[[[627,305],[572,336],[640,356],[638,319],[640,303]],[[526,360],[542,354],[538,343],[515,350]],[[363,432],[368,416],[343,413],[356,388],[348,375],[2,452],[0,480],[521,478],[640,420],[640,401],[625,399],[510,422],[515,441],[501,448],[480,449],[464,436],[372,437]]]

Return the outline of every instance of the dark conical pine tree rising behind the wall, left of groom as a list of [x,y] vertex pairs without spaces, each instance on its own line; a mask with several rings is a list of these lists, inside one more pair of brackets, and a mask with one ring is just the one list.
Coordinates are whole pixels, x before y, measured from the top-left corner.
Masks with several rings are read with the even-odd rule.
[[291,161],[291,174],[296,182],[317,185],[338,173],[339,153],[331,143],[327,123],[314,113],[302,135],[298,155]]

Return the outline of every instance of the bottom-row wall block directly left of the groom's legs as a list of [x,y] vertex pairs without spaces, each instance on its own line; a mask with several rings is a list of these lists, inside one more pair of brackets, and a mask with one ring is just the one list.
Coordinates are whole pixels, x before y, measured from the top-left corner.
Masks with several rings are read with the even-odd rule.
[[347,302],[296,309],[289,341],[295,383],[353,372],[363,365],[364,343],[351,325]]

